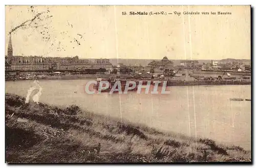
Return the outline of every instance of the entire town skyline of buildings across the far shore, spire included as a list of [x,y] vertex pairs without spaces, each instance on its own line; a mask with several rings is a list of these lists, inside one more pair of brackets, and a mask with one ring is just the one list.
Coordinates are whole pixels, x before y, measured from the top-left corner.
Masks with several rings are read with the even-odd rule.
[[[109,59],[95,59],[94,62],[88,59],[75,57],[42,57],[42,56],[13,56],[11,36],[8,44],[8,54],[5,57],[5,69],[7,71],[44,71],[44,70],[83,70],[83,69],[107,69],[109,73],[120,70],[121,68],[131,68],[133,71],[157,71],[162,73],[165,69],[236,69],[250,71],[250,65],[244,62],[225,59],[221,61],[212,60],[207,63],[199,63],[198,60],[182,60],[180,65],[174,67],[174,62],[163,57],[160,61],[152,61],[146,67],[126,66],[119,64],[117,67],[110,63]],[[127,69],[124,69],[126,71]]]

